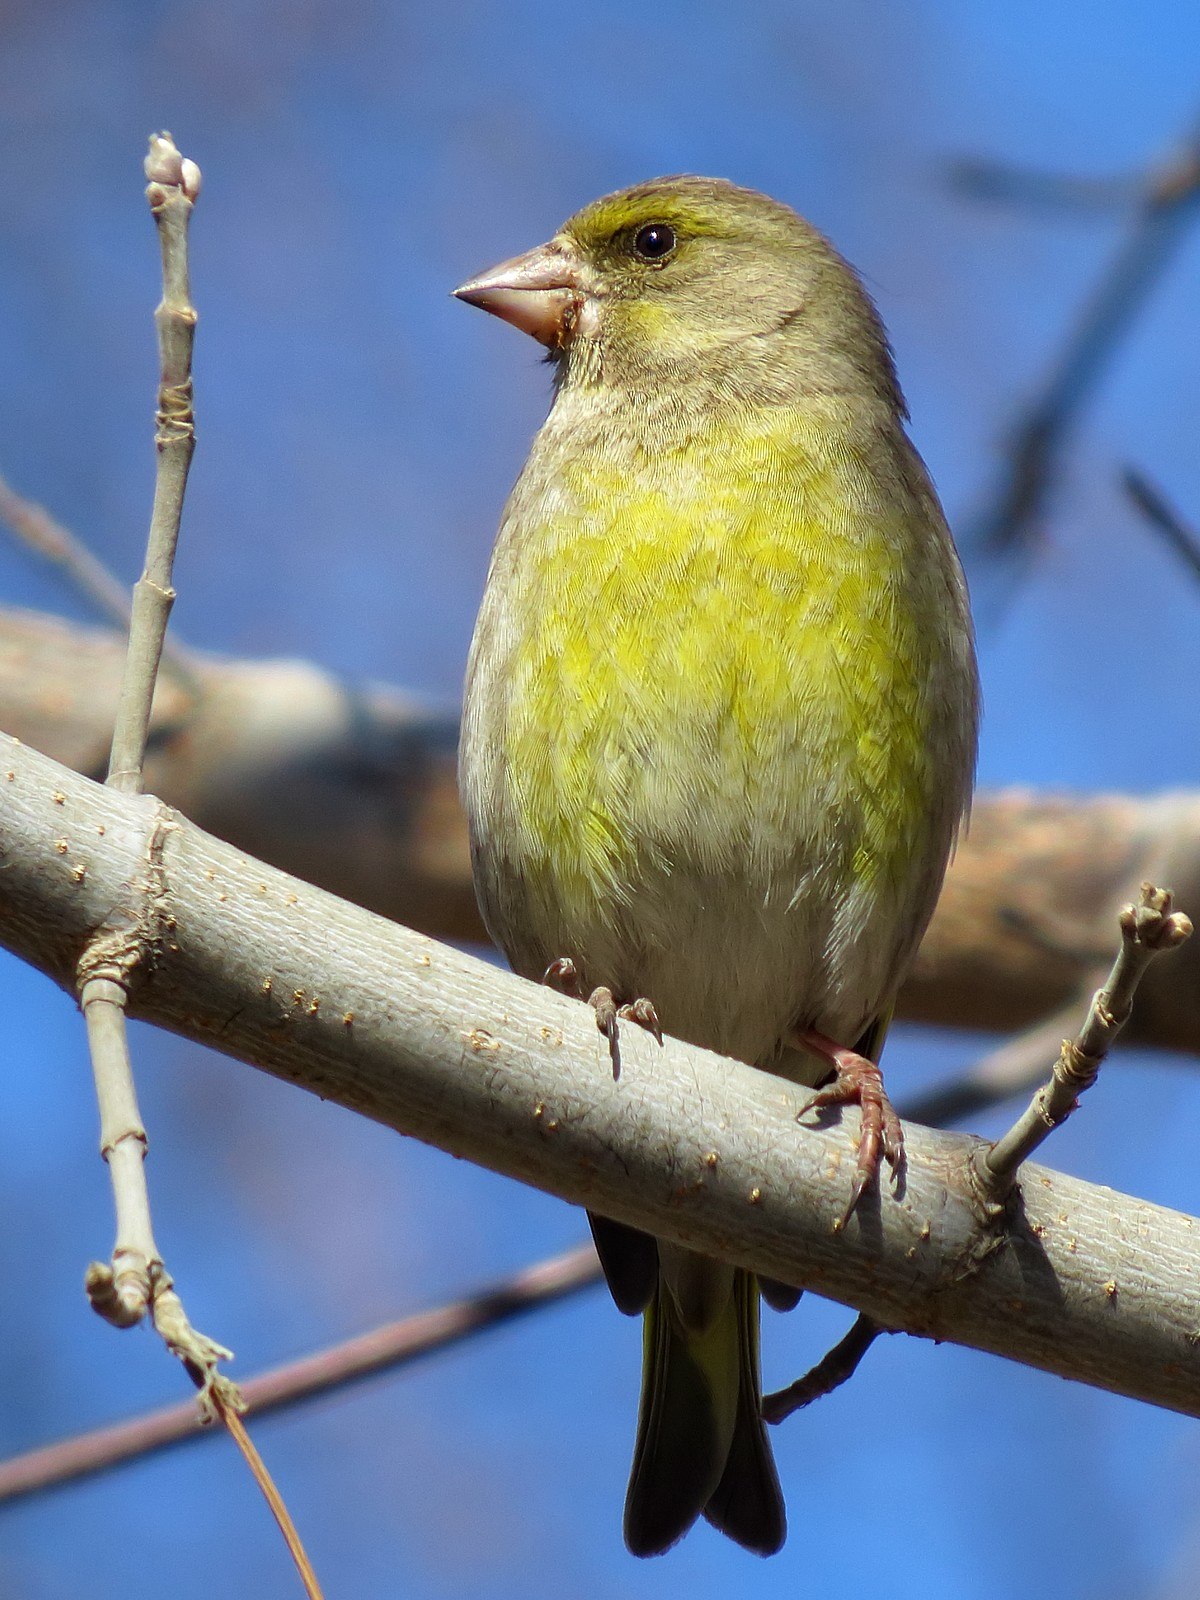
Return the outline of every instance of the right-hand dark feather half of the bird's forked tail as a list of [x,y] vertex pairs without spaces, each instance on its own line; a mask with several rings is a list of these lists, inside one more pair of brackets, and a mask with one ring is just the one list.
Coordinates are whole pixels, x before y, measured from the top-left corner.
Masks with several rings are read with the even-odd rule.
[[741,1374],[738,1419],[722,1480],[704,1515],[714,1528],[757,1555],[774,1555],[787,1536],[787,1515],[774,1456],[762,1419],[758,1376],[758,1285],[739,1272],[733,1286],[738,1304]]

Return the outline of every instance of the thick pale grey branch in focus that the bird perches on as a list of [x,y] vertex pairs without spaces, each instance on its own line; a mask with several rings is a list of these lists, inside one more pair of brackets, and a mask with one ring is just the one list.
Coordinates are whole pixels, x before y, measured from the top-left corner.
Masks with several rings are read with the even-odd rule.
[[96,923],[149,898],[158,936],[130,994],[147,1021],[888,1328],[1200,1414],[1190,1218],[1035,1166],[1002,1210],[973,1176],[978,1141],[910,1126],[902,1192],[838,1235],[853,1114],[800,1126],[795,1086],[638,1029],[614,1083],[576,1002],[14,742],[0,786],[0,930],[64,987]]

